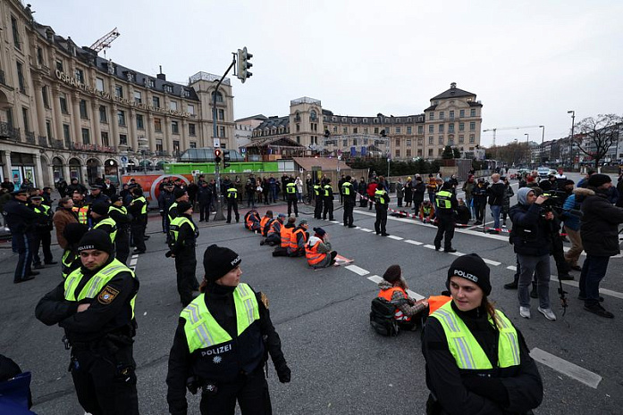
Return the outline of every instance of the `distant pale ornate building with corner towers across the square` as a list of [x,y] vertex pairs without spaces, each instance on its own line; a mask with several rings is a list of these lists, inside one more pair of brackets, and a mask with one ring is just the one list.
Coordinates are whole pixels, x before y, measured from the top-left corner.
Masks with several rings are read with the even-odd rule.
[[289,116],[269,117],[257,126],[253,139],[288,138],[289,143],[304,147],[307,155],[328,152],[434,159],[441,158],[444,146],[450,145],[468,156],[480,145],[482,108],[476,94],[455,83],[431,98],[423,113],[412,115],[336,115],[323,109],[320,100],[302,97],[290,101]]

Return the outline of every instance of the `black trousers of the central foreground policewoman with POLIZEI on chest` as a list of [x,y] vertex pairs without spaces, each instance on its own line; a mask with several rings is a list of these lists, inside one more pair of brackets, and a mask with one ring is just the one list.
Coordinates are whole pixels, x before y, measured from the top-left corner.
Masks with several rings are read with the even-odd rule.
[[268,383],[262,365],[248,375],[240,374],[235,382],[217,384],[216,393],[201,395],[201,415],[233,415],[236,401],[242,415],[271,415]]

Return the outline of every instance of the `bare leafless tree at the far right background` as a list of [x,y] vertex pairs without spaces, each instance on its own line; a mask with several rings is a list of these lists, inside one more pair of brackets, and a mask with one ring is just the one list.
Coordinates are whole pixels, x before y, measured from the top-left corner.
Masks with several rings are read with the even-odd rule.
[[588,117],[577,123],[572,139],[582,153],[593,157],[595,168],[599,167],[610,145],[619,139],[621,120],[616,114],[599,114],[597,118]]

